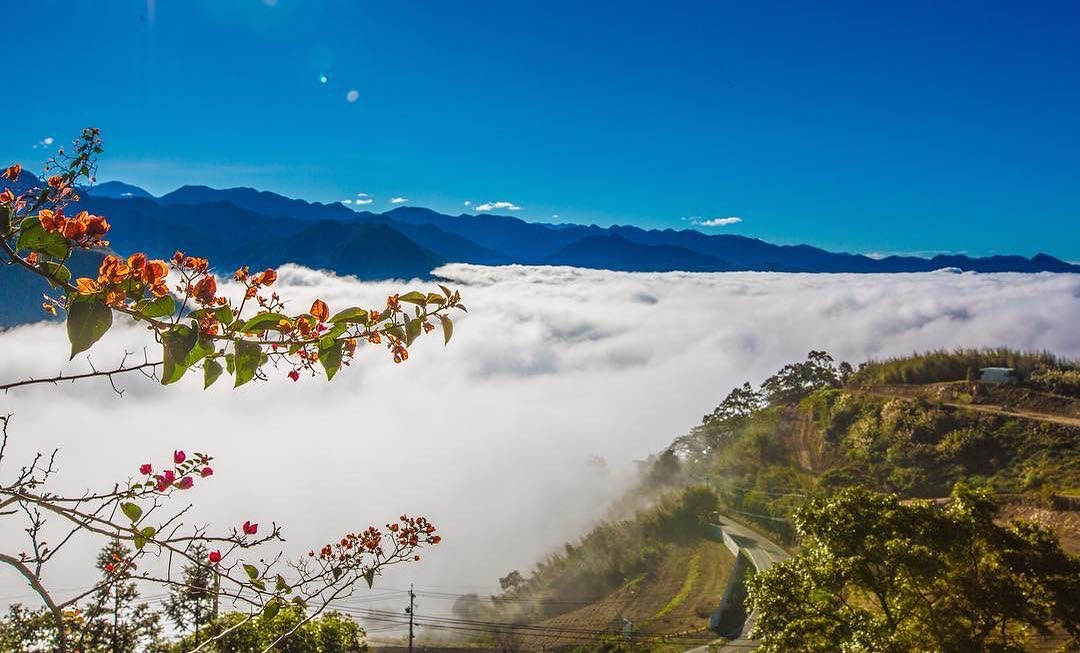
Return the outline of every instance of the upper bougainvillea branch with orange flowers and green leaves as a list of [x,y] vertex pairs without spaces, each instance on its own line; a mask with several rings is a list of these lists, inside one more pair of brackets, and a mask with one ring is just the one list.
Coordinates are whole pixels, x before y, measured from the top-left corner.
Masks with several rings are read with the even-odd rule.
[[[438,291],[411,290],[387,298],[384,305],[348,307],[330,313],[316,299],[303,312],[289,312],[285,301],[269,288],[275,270],[252,272],[240,268],[232,278],[244,289],[242,298],[218,295],[218,277],[210,261],[177,251],[165,260],[144,254],[122,258],[108,254],[95,278],[71,278],[66,263],[76,249],[108,246],[104,237],[111,225],[103,216],[83,210],[67,217],[65,208],[78,202],[77,181],[93,181],[102,151],[97,130],[85,130],[75,154],[60,150],[43,188],[15,194],[0,192],[0,249],[10,263],[43,277],[56,289],[43,310],[66,311],[71,357],[86,351],[112,326],[114,313],[145,323],[162,346],[163,384],[178,381],[189,369],[203,370],[210,386],[224,373],[243,385],[265,378],[261,370],[273,362],[298,380],[302,372],[322,369],[327,379],[353,359],[359,343],[384,344],[395,363],[408,359],[408,346],[421,335],[443,329],[449,342],[451,310],[464,311],[459,293],[446,286]],[[49,171],[46,171],[48,173]],[[17,181],[22,167],[13,164],[2,178]]]

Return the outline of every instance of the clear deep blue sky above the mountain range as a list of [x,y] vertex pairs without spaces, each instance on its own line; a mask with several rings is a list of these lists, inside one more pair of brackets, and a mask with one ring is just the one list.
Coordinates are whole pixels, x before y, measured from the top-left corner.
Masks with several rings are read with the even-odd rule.
[[0,155],[92,124],[100,178],[156,193],[1080,260],[1077,2],[35,0],[4,22]]

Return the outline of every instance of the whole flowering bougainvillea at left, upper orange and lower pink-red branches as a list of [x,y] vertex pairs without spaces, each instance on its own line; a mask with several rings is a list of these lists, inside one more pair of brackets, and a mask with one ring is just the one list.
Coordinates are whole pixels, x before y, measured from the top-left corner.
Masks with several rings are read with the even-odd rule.
[[[319,375],[330,380],[354,362],[363,343],[384,345],[399,364],[408,359],[408,348],[420,336],[438,328],[436,323],[444,344],[448,343],[454,330],[450,312],[465,310],[460,294],[440,285],[437,293],[391,295],[384,305],[374,308],[347,307],[332,313],[316,299],[306,311],[291,311],[270,289],[278,278],[272,269],[233,272],[243,296],[229,298],[218,294],[217,271],[204,258],[177,251],[166,261],[140,253],[123,258],[107,251],[105,239],[111,226],[106,217],[85,210],[70,217],[65,214],[79,201],[80,180],[94,182],[102,151],[99,132],[87,128],[70,154],[60,149],[50,159],[45,183],[40,187],[17,186],[18,164],[0,172],[0,185],[6,179],[15,188],[0,191],[0,258],[51,285],[53,293],[42,309],[65,316],[72,359],[100,340],[114,319],[146,326],[160,344],[160,358],[146,354],[140,363],[129,363],[125,355],[111,369],[91,366],[85,373],[12,381],[0,384],[0,391],[97,378],[122,393],[116,379],[136,371],[163,385],[198,372],[204,387],[228,377],[234,387],[266,381],[271,368],[287,370],[284,376],[294,382],[301,376]],[[80,250],[104,254],[96,277],[72,278],[67,263]],[[284,560],[280,554],[248,557],[252,549],[283,542],[282,528],[273,523],[257,534],[258,525],[245,522],[214,533],[184,522],[190,504],[175,506],[177,499],[213,476],[213,459],[207,453],[188,455],[176,448],[164,464],[139,465],[133,460],[138,474],[127,479],[103,479],[102,489],[60,494],[51,489],[57,473],[56,450],[38,453],[21,466],[3,460],[10,423],[11,416],[0,416],[0,470],[12,475],[0,478],[0,517],[25,520],[21,528],[27,542],[21,546],[5,541],[2,548],[11,548],[0,550],[0,563],[18,573],[41,598],[53,621],[52,649],[59,653],[72,650],[72,644],[80,648],[99,626],[76,610],[78,602],[111,591],[117,583],[108,576],[67,600],[59,600],[45,585],[45,566],[75,535],[122,543],[125,548],[114,549],[118,559],[108,564],[120,570],[114,573],[130,574],[144,584],[175,587],[180,582],[173,577],[172,564],[164,575],[143,570],[136,579],[134,570],[145,557],[208,564],[214,568],[216,598],[244,609],[243,620],[273,618],[286,606],[298,611],[301,617],[296,625],[266,650],[300,631],[357,583],[370,586],[384,567],[419,560],[420,547],[440,541],[426,518],[402,515],[384,530],[372,526],[345,533],[299,560]],[[56,536],[48,534],[49,529]],[[205,548],[199,548],[200,544]]]

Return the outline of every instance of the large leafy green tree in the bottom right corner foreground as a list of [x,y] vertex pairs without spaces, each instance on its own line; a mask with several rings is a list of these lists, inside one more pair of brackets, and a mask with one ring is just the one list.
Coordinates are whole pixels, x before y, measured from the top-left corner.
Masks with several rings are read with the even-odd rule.
[[999,526],[985,490],[947,506],[849,488],[795,515],[804,546],[756,574],[761,650],[1023,651],[1080,643],[1080,558],[1030,523]]

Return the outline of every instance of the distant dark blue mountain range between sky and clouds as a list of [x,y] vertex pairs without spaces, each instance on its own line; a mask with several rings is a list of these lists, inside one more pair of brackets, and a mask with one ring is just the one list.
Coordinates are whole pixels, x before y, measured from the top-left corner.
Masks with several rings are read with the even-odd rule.
[[[19,186],[37,179],[24,173]],[[382,214],[342,204],[306,202],[251,188],[184,186],[160,198],[121,181],[84,190],[71,210],[105,215],[117,251],[167,257],[176,249],[203,256],[222,271],[295,262],[365,278],[429,277],[447,262],[576,266],[631,272],[1080,272],[1045,254],[932,258],[872,258],[810,245],[774,245],[757,239],[631,226],[549,225],[491,214],[446,215],[402,206]],[[90,264],[94,257],[85,257]],[[22,284],[0,268],[0,297]],[[11,289],[11,293],[9,290]],[[42,288],[44,289],[44,288]],[[25,295],[25,293],[17,293]],[[31,293],[27,309],[38,310]],[[18,313],[18,311],[13,311]],[[12,324],[0,316],[0,326]]]

